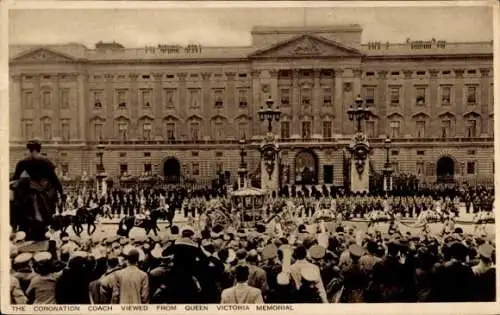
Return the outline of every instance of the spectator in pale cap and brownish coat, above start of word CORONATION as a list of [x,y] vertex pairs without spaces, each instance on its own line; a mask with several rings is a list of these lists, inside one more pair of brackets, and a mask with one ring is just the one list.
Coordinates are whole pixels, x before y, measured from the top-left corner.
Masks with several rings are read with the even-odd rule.
[[35,272],[31,279],[26,296],[33,304],[56,304],[56,283],[59,274],[53,273],[52,255],[40,252],[33,256]]

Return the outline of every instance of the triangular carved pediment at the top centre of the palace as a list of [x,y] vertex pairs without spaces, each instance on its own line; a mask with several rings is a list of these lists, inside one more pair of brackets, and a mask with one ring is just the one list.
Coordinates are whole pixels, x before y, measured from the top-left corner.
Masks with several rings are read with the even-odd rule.
[[252,53],[251,58],[362,57],[355,48],[319,36],[304,34]]

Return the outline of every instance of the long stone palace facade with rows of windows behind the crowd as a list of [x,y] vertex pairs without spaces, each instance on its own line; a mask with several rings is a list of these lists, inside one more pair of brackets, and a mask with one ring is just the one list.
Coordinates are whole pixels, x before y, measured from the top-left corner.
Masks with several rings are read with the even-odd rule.
[[[492,42],[361,42],[358,25],[255,27],[248,47],[99,42],[10,46],[10,162],[42,140],[65,176],[119,178],[147,172],[198,181],[236,180],[239,140],[249,172],[259,166],[266,124],[258,110],[281,109],[282,182],[342,185],[361,97],[371,161],[425,182],[490,179],[493,160]],[[306,183],[306,184],[310,184]]]

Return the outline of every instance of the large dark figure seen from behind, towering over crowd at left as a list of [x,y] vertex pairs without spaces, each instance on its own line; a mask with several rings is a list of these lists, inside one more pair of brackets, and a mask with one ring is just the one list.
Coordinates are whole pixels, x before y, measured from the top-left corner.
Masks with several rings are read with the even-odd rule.
[[45,240],[48,226],[52,224],[58,200],[64,197],[63,187],[55,173],[55,165],[40,154],[38,140],[27,144],[29,156],[19,161],[11,189],[14,191],[11,214],[16,217],[27,240]]

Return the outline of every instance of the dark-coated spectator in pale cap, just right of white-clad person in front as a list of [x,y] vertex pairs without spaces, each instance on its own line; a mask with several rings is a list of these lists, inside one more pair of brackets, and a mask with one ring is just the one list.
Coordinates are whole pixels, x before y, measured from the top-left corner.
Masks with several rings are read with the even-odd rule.
[[360,259],[365,254],[365,251],[357,244],[352,244],[348,250],[352,262],[341,272],[344,279],[344,291],[341,296],[341,302],[363,303],[364,290],[368,284],[368,275],[361,266]]

